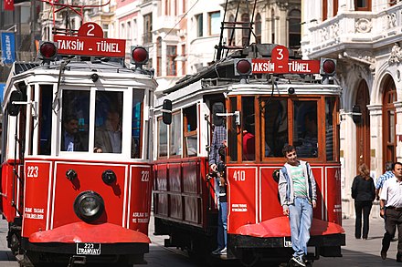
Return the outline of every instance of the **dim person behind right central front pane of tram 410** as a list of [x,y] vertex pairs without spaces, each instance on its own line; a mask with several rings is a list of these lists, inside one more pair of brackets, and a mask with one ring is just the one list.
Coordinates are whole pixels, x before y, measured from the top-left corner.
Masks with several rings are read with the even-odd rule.
[[304,127],[302,144],[296,147],[297,154],[301,158],[317,158],[317,115],[314,112],[304,115]]

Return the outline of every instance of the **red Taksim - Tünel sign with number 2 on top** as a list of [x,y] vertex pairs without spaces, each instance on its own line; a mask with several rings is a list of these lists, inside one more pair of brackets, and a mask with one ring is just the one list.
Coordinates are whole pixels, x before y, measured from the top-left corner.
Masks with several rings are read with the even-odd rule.
[[79,27],[78,36],[54,36],[58,54],[76,56],[125,56],[125,40],[103,38],[103,30],[95,23]]

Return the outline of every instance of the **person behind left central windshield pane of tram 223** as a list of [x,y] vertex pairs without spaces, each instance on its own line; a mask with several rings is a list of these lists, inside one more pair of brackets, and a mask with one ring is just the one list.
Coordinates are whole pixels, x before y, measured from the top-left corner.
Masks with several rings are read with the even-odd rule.
[[79,135],[79,119],[69,115],[63,119],[63,136],[61,139],[62,151],[88,151],[86,142]]

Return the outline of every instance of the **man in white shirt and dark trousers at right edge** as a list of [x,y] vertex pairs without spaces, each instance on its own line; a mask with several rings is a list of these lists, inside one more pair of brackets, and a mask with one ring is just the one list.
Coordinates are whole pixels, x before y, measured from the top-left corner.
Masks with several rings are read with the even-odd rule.
[[397,231],[397,262],[402,262],[402,163],[393,163],[392,172],[395,177],[386,180],[380,195],[380,215],[386,221],[380,254],[386,260],[386,252]]

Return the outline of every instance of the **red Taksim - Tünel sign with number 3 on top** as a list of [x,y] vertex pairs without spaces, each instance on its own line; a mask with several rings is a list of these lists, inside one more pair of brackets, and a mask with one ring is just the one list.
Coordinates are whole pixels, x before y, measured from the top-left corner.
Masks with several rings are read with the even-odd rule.
[[319,60],[289,60],[289,51],[285,46],[275,46],[271,59],[253,58],[253,73],[320,73]]

